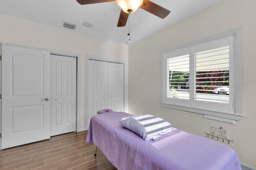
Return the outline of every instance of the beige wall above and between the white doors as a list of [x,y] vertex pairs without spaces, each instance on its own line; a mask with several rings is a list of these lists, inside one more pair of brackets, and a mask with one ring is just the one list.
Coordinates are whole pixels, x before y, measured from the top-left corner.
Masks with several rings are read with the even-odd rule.
[[[1,17],[2,16],[2,17]],[[0,13],[0,41],[81,54],[81,87],[85,87],[86,55],[128,61],[128,46],[58,29]],[[2,35],[2,36],[1,36]],[[128,62],[127,62],[128,63]],[[80,90],[80,89],[78,89]],[[85,92],[81,92],[81,122],[85,125]]]

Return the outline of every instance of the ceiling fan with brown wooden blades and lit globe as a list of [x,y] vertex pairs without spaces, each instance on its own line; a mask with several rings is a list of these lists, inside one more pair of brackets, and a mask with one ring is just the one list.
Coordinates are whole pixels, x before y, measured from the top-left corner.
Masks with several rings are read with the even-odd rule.
[[[129,14],[135,12],[138,8],[142,8],[143,10],[146,10],[147,12],[150,12],[151,14],[154,14],[155,16],[158,16],[162,19],[168,16],[168,14],[170,14],[169,10],[163,8],[162,6],[159,6],[158,4],[155,4],[154,2],[151,2],[150,0],[76,0],[76,1],[81,5],[116,1],[117,5],[120,8],[122,8],[120,12],[118,24],[117,24],[118,27],[125,26]],[[135,7],[133,7],[134,5]]]

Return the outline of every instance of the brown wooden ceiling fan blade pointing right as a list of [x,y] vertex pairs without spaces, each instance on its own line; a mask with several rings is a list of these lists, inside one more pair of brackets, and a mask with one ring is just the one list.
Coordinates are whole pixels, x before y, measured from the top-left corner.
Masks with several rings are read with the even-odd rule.
[[150,0],[144,0],[140,8],[162,19],[168,16],[168,14],[170,14],[169,10],[163,8],[162,6],[159,6],[158,4],[155,4],[154,2],[151,2]]

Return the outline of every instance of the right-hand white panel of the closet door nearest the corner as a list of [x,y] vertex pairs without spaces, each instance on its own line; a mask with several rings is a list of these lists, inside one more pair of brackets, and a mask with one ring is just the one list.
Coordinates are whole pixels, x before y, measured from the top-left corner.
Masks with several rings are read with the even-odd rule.
[[108,108],[124,111],[124,64],[108,63]]

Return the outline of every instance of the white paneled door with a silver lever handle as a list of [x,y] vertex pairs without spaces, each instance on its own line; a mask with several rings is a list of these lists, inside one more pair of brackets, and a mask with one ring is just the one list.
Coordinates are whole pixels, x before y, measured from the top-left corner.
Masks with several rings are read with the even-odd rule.
[[50,52],[2,45],[1,149],[50,138]]

